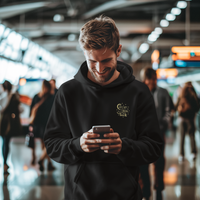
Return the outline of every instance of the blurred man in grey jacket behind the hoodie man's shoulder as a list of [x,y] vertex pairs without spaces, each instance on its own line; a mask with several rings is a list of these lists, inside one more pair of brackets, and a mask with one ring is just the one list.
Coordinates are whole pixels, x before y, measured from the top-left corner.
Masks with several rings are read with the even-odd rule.
[[[170,111],[174,110],[174,106],[166,89],[157,86],[156,71],[152,68],[144,69],[143,81],[148,86],[154,98],[156,112],[159,120],[161,135],[164,138],[170,123]],[[164,146],[160,158],[154,163],[155,165],[155,181],[154,189],[156,189],[156,200],[162,199],[162,190],[164,189],[163,173],[165,166]],[[151,196],[149,165],[140,166],[141,179],[143,182],[143,195],[146,200]]]

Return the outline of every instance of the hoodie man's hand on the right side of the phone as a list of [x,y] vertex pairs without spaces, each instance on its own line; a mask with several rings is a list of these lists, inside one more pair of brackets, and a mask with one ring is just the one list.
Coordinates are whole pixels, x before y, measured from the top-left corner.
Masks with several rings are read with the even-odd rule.
[[122,141],[118,133],[106,133],[104,134],[105,138],[108,139],[97,139],[98,143],[105,144],[109,143],[109,145],[101,146],[101,150],[105,153],[110,154],[119,154],[122,149]]

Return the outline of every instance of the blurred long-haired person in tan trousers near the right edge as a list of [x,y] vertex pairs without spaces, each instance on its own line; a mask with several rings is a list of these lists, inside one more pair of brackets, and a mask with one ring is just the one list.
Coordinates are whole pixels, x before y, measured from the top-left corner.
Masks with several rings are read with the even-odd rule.
[[186,82],[178,97],[178,102],[175,106],[180,117],[180,156],[179,162],[182,162],[185,157],[184,143],[185,135],[189,133],[191,143],[191,159],[196,159],[197,149],[195,142],[195,116],[199,111],[198,97],[191,82]]

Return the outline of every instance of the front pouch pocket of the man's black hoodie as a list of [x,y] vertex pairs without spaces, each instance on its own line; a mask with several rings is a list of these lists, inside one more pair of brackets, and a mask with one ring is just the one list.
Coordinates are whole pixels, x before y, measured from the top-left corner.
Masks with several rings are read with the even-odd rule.
[[130,200],[138,190],[134,177],[119,163],[82,163],[73,180],[77,199]]

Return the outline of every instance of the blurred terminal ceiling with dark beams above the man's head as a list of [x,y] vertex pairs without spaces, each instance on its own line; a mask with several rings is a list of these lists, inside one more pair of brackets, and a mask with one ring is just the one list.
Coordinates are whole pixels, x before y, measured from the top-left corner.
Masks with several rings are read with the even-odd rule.
[[[200,0],[187,1],[188,7],[162,28],[163,33],[149,50],[138,49],[148,42],[148,35],[176,7],[177,0],[1,0],[0,20],[63,61],[78,68],[84,61],[78,46],[81,26],[89,19],[104,14],[113,18],[121,36],[121,58],[128,63],[150,61],[154,49],[168,57],[174,45],[200,45]],[[56,14],[63,21],[54,22]],[[73,35],[71,35],[73,34]],[[72,41],[70,41],[72,40]]]

